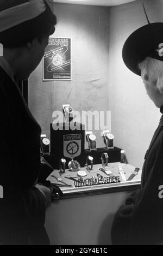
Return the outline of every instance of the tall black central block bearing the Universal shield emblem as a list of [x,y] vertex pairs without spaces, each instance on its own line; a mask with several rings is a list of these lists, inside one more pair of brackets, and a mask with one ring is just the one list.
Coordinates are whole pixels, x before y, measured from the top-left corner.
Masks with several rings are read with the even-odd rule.
[[71,159],[81,164],[84,142],[85,127],[82,123],[59,123],[55,126],[51,123],[51,154],[45,158],[57,169],[61,158],[66,159],[66,168]]

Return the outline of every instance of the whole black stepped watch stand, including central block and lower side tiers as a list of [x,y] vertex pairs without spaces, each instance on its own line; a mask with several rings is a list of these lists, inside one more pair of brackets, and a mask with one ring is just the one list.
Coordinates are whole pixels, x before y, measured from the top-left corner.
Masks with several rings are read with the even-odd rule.
[[66,169],[71,159],[84,167],[88,156],[93,157],[93,164],[101,164],[102,153],[108,153],[108,163],[121,162],[121,148],[114,147],[107,150],[103,147],[97,148],[96,151],[85,150],[84,128],[81,123],[59,123],[57,127],[53,127],[51,123],[51,153],[44,154],[44,157],[54,169],[59,169],[62,158],[66,160]]

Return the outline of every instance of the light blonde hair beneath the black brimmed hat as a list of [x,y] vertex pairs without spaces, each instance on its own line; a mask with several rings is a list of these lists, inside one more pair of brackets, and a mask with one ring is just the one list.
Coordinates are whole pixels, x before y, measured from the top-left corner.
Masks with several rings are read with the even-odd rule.
[[146,81],[155,86],[155,89],[163,94],[163,62],[152,57],[146,57],[139,63],[141,76]]

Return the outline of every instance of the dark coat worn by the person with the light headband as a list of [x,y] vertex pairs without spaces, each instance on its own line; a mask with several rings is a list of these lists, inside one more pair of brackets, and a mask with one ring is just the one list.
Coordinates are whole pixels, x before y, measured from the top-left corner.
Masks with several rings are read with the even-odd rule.
[[0,244],[47,244],[40,171],[41,128],[17,85],[0,67]]

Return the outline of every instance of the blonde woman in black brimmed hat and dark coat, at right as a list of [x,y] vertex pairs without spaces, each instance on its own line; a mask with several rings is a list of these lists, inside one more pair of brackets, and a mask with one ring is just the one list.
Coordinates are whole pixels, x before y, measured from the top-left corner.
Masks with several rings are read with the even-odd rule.
[[[163,114],[163,23],[137,29],[123,46],[123,61],[141,75],[149,98]],[[141,189],[116,213],[111,236],[114,245],[163,244],[163,115],[145,156]]]

